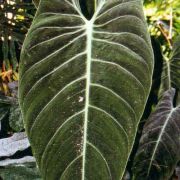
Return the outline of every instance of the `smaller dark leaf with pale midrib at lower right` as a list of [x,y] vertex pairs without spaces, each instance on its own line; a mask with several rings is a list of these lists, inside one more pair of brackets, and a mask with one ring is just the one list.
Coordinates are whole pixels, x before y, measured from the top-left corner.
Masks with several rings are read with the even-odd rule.
[[180,160],[180,106],[175,90],[166,91],[145,127],[134,161],[134,179],[168,180]]

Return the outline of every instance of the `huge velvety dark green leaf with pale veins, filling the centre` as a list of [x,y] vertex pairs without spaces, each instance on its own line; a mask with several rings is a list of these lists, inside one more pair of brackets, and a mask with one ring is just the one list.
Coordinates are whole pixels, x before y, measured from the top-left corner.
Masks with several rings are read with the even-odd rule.
[[121,179],[149,94],[142,2],[95,2],[87,20],[78,0],[42,0],[24,42],[20,105],[47,180]]

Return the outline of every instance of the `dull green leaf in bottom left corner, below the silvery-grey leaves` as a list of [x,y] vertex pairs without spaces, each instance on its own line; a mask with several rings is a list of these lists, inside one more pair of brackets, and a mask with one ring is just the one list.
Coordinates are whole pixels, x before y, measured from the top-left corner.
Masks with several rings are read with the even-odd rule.
[[3,180],[42,180],[34,162],[1,168],[0,177]]

